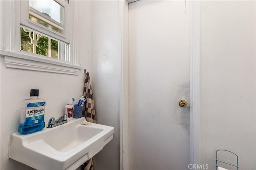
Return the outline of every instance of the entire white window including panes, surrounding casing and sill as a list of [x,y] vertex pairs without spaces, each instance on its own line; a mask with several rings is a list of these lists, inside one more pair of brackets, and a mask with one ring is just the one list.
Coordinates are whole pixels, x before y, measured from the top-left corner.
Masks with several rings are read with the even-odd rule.
[[5,66],[78,75],[83,68],[76,56],[77,8],[76,1],[68,0],[0,0],[0,55]]

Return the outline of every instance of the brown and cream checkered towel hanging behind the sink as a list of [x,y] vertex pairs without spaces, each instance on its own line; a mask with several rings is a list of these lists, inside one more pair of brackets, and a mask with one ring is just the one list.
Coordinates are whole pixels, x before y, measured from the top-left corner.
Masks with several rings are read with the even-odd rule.
[[[96,116],[95,116],[95,107],[94,107],[94,100],[92,97],[92,85],[90,80],[89,73],[85,74],[85,81],[84,81],[84,97],[86,98],[86,102],[83,105],[83,113],[82,115],[85,117],[86,121],[91,123],[96,123]],[[94,159],[91,158],[87,162],[84,163],[84,170],[94,170]]]

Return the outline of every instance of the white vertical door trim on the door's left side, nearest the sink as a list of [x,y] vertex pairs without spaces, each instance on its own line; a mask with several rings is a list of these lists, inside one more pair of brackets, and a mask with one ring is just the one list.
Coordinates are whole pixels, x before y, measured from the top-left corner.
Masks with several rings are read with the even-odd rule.
[[120,170],[129,170],[129,31],[128,2],[118,1],[120,33]]

